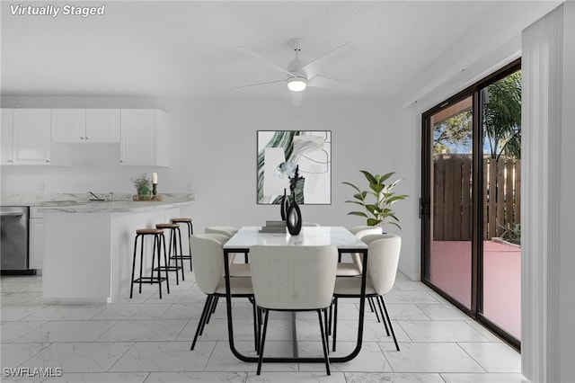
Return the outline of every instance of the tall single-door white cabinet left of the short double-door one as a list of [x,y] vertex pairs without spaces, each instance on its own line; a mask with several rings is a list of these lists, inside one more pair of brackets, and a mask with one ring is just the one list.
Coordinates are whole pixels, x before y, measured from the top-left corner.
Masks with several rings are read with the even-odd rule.
[[13,164],[50,165],[50,110],[13,110]]

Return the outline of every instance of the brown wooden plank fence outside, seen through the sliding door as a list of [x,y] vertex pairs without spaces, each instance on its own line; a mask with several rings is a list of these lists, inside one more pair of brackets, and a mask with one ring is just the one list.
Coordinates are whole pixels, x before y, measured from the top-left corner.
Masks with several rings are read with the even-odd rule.
[[[472,227],[472,159],[438,155],[433,174],[433,238],[469,241]],[[483,159],[483,239],[521,222],[521,161]]]

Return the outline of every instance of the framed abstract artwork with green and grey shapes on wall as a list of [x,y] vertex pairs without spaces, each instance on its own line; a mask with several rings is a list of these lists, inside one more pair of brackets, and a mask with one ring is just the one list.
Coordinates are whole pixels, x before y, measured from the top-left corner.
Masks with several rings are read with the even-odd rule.
[[279,204],[298,169],[298,204],[332,203],[331,130],[258,130],[257,201]]

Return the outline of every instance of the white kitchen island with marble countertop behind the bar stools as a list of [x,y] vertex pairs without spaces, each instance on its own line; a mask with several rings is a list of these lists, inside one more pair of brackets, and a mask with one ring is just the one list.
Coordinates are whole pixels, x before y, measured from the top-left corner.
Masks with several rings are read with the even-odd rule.
[[[111,303],[126,296],[136,230],[169,223],[190,203],[122,200],[43,209],[44,298],[61,303]],[[144,265],[147,272],[149,263],[151,257]]]

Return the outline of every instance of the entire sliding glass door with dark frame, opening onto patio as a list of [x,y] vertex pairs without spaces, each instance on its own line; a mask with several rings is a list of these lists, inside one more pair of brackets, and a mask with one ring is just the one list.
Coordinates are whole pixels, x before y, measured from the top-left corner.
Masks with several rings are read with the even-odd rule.
[[517,61],[422,119],[421,280],[520,345]]

